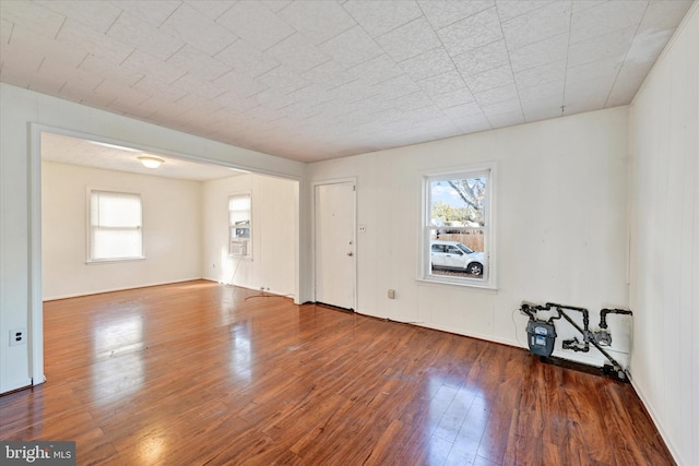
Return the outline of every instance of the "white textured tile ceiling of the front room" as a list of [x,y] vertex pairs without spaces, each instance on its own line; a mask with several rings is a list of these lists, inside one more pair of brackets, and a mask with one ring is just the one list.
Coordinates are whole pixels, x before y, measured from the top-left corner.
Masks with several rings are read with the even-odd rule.
[[691,1],[0,1],[0,80],[301,162],[628,104]]

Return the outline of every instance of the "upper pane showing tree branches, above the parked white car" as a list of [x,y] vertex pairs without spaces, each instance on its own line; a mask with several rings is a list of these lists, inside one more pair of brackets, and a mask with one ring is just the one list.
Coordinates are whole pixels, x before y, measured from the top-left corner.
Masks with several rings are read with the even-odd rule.
[[485,176],[429,182],[430,225],[445,227],[483,227],[486,225]]

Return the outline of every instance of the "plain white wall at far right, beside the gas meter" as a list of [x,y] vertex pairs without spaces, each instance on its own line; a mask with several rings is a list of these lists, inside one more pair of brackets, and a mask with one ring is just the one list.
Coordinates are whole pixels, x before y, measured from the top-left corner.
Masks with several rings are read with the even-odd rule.
[[633,386],[680,465],[699,464],[699,8],[630,107]]

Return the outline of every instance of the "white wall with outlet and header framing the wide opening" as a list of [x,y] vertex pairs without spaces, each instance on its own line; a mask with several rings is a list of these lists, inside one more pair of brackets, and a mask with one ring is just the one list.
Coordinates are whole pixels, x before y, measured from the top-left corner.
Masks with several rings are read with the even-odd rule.
[[[43,380],[38,136],[32,123],[165,155],[301,179],[305,165],[0,83],[0,393]],[[33,150],[34,148],[34,150]],[[32,181],[33,180],[33,181]],[[304,262],[304,258],[299,258]],[[10,328],[28,345],[9,346]],[[32,360],[31,351],[34,351]]]

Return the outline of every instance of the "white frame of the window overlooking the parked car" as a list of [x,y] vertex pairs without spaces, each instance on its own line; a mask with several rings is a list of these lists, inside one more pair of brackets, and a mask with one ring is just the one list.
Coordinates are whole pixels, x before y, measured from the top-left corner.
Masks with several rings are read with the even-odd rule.
[[[455,180],[464,178],[475,178],[486,175],[486,201],[485,201],[485,226],[484,227],[450,227],[450,229],[471,230],[477,229],[484,231],[484,255],[485,270],[482,278],[460,277],[450,275],[439,275],[431,273],[430,260],[430,237],[431,232],[437,228],[431,225],[431,192],[430,183],[441,180]],[[497,259],[496,259],[496,189],[497,189],[497,165],[496,163],[484,163],[478,165],[459,166],[449,169],[426,171],[420,174],[422,181],[422,215],[420,215],[420,241],[419,241],[419,274],[418,280],[440,284],[466,286],[474,288],[497,289]]]

